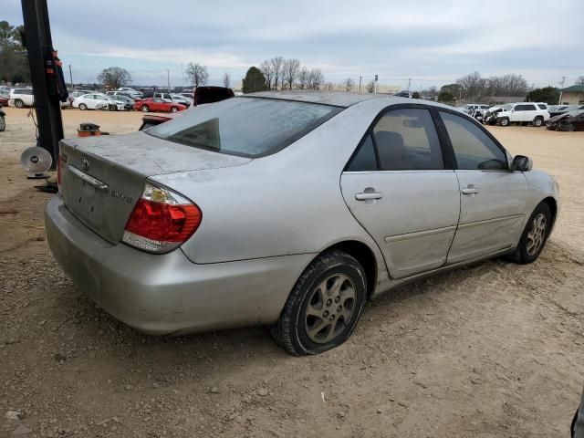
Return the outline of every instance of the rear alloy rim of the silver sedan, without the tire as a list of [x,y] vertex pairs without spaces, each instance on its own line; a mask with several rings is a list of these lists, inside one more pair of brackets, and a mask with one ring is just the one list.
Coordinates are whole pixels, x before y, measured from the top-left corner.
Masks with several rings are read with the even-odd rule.
[[318,344],[330,342],[349,325],[356,308],[356,287],[344,274],[325,278],[312,292],[305,312],[308,339]]

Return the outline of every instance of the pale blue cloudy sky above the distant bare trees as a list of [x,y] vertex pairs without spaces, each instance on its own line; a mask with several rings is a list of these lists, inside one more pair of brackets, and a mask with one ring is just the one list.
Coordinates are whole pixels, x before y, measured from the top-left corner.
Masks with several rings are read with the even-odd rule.
[[[529,85],[572,85],[584,75],[584,0],[48,0],[53,36],[75,82],[103,68],[134,84],[189,85],[189,62],[237,85],[267,58],[297,57],[327,81],[353,78],[407,89],[441,87],[478,71],[521,74]],[[0,20],[23,22],[20,0]],[[411,78],[411,82],[409,79]]]

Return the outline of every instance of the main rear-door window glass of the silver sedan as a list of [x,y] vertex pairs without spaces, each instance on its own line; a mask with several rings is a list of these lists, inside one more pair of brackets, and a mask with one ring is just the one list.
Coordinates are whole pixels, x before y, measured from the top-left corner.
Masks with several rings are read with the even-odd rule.
[[443,169],[438,133],[429,110],[391,110],[373,128],[382,171]]

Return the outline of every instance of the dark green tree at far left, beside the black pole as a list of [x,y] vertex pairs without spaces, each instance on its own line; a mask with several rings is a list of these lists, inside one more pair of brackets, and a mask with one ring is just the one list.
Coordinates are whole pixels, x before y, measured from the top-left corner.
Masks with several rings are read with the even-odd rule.
[[26,48],[20,37],[23,30],[24,26],[10,26],[7,21],[0,21],[0,80],[13,84],[30,81]]

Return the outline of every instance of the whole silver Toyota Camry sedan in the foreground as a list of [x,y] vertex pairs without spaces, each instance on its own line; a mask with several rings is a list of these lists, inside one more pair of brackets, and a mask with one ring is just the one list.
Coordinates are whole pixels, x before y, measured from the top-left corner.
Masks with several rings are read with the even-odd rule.
[[101,308],[157,335],[266,324],[296,355],[408,281],[535,261],[559,209],[554,179],[472,118],[367,94],[225,99],[63,140],[59,163],[47,242]]

